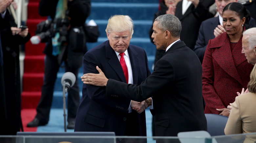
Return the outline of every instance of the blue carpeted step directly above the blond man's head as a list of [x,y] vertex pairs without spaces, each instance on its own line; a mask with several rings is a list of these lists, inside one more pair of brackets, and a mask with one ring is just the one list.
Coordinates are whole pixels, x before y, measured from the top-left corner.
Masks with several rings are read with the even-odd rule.
[[129,15],[133,20],[152,20],[158,3],[96,3],[92,2],[88,19],[109,19],[111,15]]

